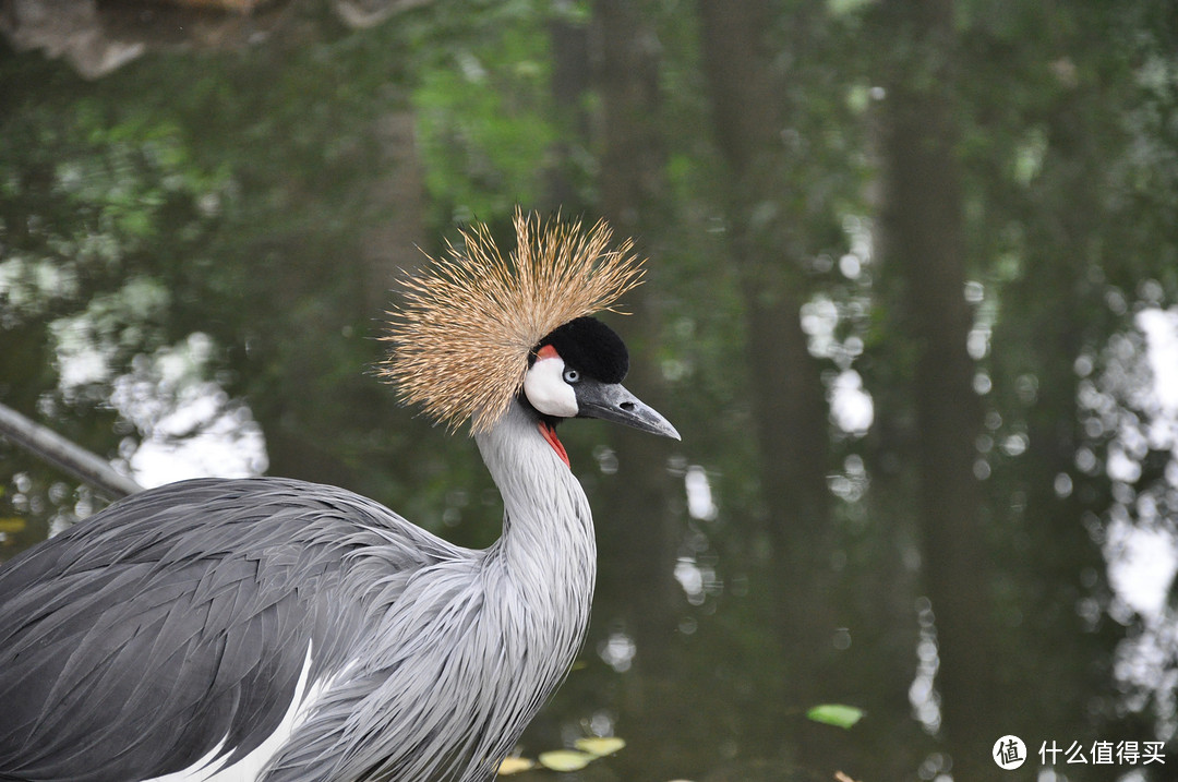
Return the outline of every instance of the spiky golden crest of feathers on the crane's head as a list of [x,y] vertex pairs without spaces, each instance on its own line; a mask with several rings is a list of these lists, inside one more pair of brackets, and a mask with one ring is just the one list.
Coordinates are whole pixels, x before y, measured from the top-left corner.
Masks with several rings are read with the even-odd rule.
[[466,419],[475,432],[490,429],[523,387],[541,339],[642,281],[633,244],[609,248],[603,220],[583,231],[516,210],[515,231],[507,258],[485,225],[463,231],[462,246],[404,280],[403,303],[389,313],[392,351],[379,373],[450,429]]

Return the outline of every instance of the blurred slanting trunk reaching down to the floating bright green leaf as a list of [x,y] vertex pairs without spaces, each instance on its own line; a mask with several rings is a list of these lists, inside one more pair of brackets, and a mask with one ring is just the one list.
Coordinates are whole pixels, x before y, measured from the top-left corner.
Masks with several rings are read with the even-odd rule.
[[[729,172],[729,263],[743,292],[749,392],[772,555],[774,621],[783,649],[783,705],[822,695],[833,661],[829,428],[816,360],[801,329],[806,291],[799,263],[805,216],[789,211],[790,160],[782,143],[786,78],[769,40],[767,0],[700,0],[713,132]],[[805,27],[800,24],[799,27]],[[780,734],[776,734],[780,736]],[[768,737],[766,737],[768,738]],[[800,736],[803,762],[833,762]]]

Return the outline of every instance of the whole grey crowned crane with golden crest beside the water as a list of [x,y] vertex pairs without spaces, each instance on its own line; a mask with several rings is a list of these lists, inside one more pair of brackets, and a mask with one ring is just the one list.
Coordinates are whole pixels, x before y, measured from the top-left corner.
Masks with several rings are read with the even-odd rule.
[[490,778],[589,621],[593,518],[556,425],[679,438],[590,317],[640,283],[598,223],[516,214],[426,264],[382,365],[469,422],[503,535],[464,549],[379,503],[285,478],[131,496],[0,570],[0,780]]

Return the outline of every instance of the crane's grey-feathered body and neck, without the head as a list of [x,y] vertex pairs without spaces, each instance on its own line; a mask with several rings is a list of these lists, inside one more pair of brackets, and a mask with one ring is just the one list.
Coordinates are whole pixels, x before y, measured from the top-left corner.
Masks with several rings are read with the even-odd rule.
[[505,510],[485,551],[342,489],[198,479],[8,563],[0,780],[153,778],[218,747],[232,766],[309,658],[315,696],[258,780],[490,778],[581,645],[595,546],[532,416],[477,440]]

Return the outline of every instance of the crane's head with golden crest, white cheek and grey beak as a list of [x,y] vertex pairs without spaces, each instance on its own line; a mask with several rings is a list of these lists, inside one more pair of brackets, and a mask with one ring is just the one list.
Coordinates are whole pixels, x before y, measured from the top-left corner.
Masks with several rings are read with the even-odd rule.
[[575,417],[677,439],[666,418],[622,386],[626,345],[589,317],[641,283],[630,243],[610,248],[604,223],[589,231],[544,226],[519,211],[515,228],[507,258],[487,226],[475,226],[449,257],[404,280],[380,373],[404,402],[451,429],[470,420],[475,432],[488,431],[519,403],[558,451],[552,428]]

